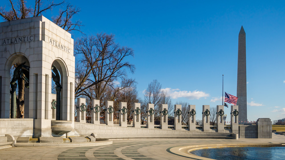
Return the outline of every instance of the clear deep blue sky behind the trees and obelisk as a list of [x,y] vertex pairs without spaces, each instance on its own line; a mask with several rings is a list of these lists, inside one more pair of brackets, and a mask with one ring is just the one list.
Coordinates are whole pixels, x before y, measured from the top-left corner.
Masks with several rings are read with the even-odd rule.
[[[0,5],[9,1],[1,1]],[[284,1],[70,1],[82,11],[86,35],[115,34],[133,48],[139,96],[157,79],[175,104],[221,105],[224,91],[237,92],[238,34],[243,25],[247,47],[247,114],[278,120],[285,117]],[[52,13],[43,15],[50,19]],[[1,20],[2,22],[3,20]],[[73,38],[80,37],[73,33]],[[230,115],[230,108],[225,114]],[[229,117],[227,118],[229,121]]]

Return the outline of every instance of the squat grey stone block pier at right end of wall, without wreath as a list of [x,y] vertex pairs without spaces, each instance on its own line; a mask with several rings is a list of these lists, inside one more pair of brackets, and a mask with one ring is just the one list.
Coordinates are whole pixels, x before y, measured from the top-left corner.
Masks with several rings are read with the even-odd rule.
[[272,121],[269,118],[258,118],[257,138],[272,138]]

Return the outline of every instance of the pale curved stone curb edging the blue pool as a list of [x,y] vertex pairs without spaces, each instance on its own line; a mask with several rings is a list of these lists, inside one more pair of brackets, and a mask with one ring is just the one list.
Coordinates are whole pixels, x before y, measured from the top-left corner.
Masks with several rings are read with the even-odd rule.
[[202,144],[202,145],[182,145],[177,147],[170,147],[166,149],[167,152],[174,155],[179,155],[182,157],[188,157],[197,160],[214,160],[211,158],[200,157],[194,154],[189,153],[190,151],[196,149],[205,149],[205,148],[220,148],[220,147],[246,147],[246,146],[284,146],[282,143],[228,143],[228,144]]

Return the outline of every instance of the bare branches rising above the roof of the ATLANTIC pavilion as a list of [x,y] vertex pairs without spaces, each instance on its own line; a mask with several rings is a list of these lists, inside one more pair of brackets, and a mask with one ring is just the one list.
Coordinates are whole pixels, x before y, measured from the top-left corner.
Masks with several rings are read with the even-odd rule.
[[6,10],[5,6],[0,7],[0,15],[6,21],[40,16],[45,11],[52,10],[52,8],[60,6],[64,9],[60,10],[57,16],[52,17],[52,21],[55,24],[62,27],[66,31],[79,31],[80,26],[82,26],[80,21],[72,22],[72,17],[78,14],[80,9],[71,5],[70,3],[64,3],[64,1],[54,3],[54,1],[48,0],[35,0],[34,5],[31,6],[27,6],[27,1],[25,0],[18,0],[16,3],[9,0],[9,2],[10,8],[8,10]]

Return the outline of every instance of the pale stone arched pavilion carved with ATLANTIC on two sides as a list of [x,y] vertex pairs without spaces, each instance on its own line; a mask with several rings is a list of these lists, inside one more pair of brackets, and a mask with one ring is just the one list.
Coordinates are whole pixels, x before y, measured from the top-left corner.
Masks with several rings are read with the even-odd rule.
[[34,119],[34,136],[51,136],[52,64],[62,75],[61,120],[74,121],[75,57],[70,33],[38,16],[2,22],[0,43],[1,118],[10,117],[11,66],[26,62],[30,85],[25,89],[24,116]]

